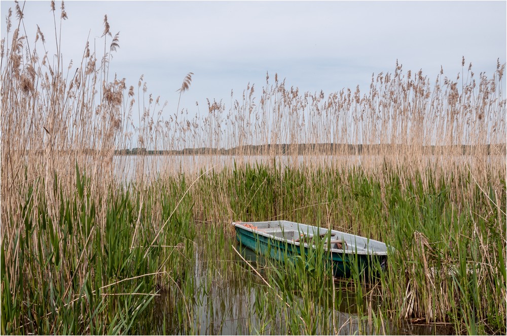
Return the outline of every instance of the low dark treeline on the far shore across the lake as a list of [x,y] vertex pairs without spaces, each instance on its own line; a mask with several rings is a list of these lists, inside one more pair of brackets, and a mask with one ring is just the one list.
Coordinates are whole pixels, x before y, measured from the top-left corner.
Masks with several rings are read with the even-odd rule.
[[[413,148],[411,148],[413,147]],[[459,151],[461,147],[461,151]],[[480,147],[480,148],[479,148]],[[115,155],[308,155],[308,154],[380,154],[386,152],[407,152],[411,149],[422,151],[426,155],[435,153],[454,152],[468,155],[479,150],[488,155],[506,155],[506,144],[490,144],[483,146],[454,145],[454,146],[411,146],[411,145],[351,145],[351,144],[278,144],[278,145],[246,145],[230,149],[225,148],[185,148],[182,150],[147,150],[146,148],[117,149]],[[90,153],[91,154],[91,153]]]

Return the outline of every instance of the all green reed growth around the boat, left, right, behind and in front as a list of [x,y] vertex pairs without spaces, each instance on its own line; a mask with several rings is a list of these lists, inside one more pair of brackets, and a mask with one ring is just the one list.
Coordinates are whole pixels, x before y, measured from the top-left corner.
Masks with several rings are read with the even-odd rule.
[[[3,243],[3,331],[142,330],[138,328],[143,314],[153,314],[143,309],[153,309],[153,295],[160,288],[170,288],[179,302],[172,324],[182,325],[184,333],[197,330],[195,321],[202,313],[196,307],[203,302],[195,291],[210,293],[214,285],[196,280],[194,242],[200,241],[207,254],[225,258],[224,246],[234,239],[230,213],[245,221],[284,214],[284,219],[360,232],[394,247],[387,272],[380,273],[373,288],[363,288],[365,277],[354,272],[350,282],[358,302],[372,295],[382,298],[375,308],[357,306],[359,316],[382,323],[375,324],[377,330],[385,328],[381,321],[420,317],[452,323],[456,330],[466,332],[505,330],[504,190],[497,191],[498,200],[503,200],[499,204],[479,188],[467,203],[456,203],[448,189],[436,187],[437,181],[431,178],[430,189],[422,179],[403,187],[392,173],[386,183],[388,192],[382,196],[381,182],[360,171],[301,172],[287,168],[282,172],[276,165],[212,172],[196,181],[184,197],[189,183],[181,175],[155,181],[146,192],[136,191],[135,185],[112,189],[99,205],[90,195],[89,179],[78,170],[77,192],[62,203],[58,221],[47,215],[30,218],[34,204],[44,209],[46,200],[44,193],[28,193],[20,207],[27,214],[24,231],[12,244]],[[474,183],[467,176],[455,178],[458,183]],[[216,188],[219,183],[226,187]],[[224,190],[230,192],[228,197]],[[300,192],[300,197],[294,196]],[[168,229],[149,247],[161,220],[170,216],[182,197]],[[306,206],[309,202],[316,205]],[[200,206],[205,203],[207,207]],[[98,213],[105,216],[103,228],[96,222]],[[209,218],[212,223],[191,225],[195,220],[207,223]],[[197,238],[197,227],[203,228],[198,230],[201,238]],[[104,230],[101,234],[100,229]],[[309,257],[303,254],[281,267],[270,267],[265,279],[276,289],[257,293],[256,316],[282,314],[284,324],[276,327],[284,332],[339,328],[330,320],[340,300],[333,298],[330,269],[320,258],[323,253],[311,248]],[[9,258],[16,262],[5,263]],[[204,278],[228,274],[227,267],[212,266]],[[158,272],[163,273],[148,275]],[[15,290],[8,290],[8,284]],[[245,286],[256,284],[246,282]],[[268,301],[276,306],[261,305]]]

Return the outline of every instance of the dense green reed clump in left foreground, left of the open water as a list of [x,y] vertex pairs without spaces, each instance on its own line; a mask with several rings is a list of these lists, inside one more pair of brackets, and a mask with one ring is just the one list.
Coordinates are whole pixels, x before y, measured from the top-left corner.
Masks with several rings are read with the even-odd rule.
[[[79,170],[77,176],[77,192],[61,203],[56,221],[45,211],[44,194],[29,189],[20,205],[24,230],[15,232],[12,244],[3,240],[3,333],[127,332],[156,295],[157,276],[178,276],[182,261],[173,250],[186,246],[181,237],[193,238],[188,228],[178,230],[188,223],[185,207],[170,223],[173,238],[164,234],[153,245],[155,231],[147,228],[159,198],[146,200],[143,211],[138,192],[111,189],[99,205],[89,179]],[[32,217],[35,206],[37,218]],[[173,207],[162,202],[162,213]],[[103,228],[96,222],[98,212],[105,217]],[[136,221],[142,226],[137,235]]]

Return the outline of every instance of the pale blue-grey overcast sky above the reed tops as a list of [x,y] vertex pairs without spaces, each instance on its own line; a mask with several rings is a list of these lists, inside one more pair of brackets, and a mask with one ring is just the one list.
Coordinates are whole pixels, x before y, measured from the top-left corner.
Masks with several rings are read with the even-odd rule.
[[[2,37],[9,7],[14,11],[14,2],[1,2]],[[65,9],[65,62],[81,60],[88,35],[103,48],[107,14],[113,35],[120,32],[111,71],[134,87],[144,74],[148,92],[168,101],[166,115],[175,112],[188,72],[193,81],[180,109],[195,114],[195,102],[202,112],[206,98],[229,107],[231,90],[241,100],[248,82],[259,97],[266,71],[300,92],[328,95],[357,85],[366,92],[372,73],[392,72],[396,59],[405,71],[422,69],[433,80],[441,65],[455,78],[462,56],[474,72],[491,76],[507,54],[505,1],[68,1]],[[49,1],[26,2],[24,18],[30,43],[37,24],[54,40]]]

